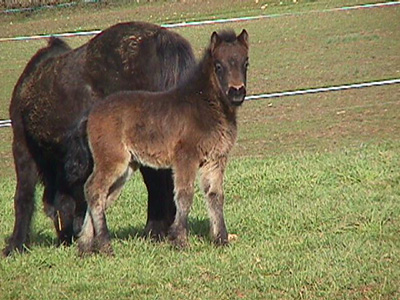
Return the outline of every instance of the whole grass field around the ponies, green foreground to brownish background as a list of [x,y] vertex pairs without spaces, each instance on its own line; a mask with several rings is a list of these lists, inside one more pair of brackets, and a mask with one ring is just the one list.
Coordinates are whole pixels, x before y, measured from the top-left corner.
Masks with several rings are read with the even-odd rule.
[[[397,6],[316,13],[367,1],[117,2],[1,15],[0,37],[304,12],[176,31],[199,56],[213,30],[246,28],[250,94],[400,77]],[[0,119],[43,45],[0,43]],[[225,183],[238,240],[226,248],[208,239],[199,192],[189,249],[141,238],[146,192],[136,174],[108,211],[116,256],[80,259],[76,246],[55,246],[39,190],[29,253],[0,259],[0,299],[399,299],[399,115],[399,85],[245,103]],[[0,129],[0,248],[14,220],[11,139]]]

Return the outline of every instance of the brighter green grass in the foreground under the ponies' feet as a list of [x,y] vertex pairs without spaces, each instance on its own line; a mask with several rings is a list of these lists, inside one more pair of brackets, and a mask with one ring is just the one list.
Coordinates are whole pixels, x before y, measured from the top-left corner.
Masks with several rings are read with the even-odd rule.
[[[115,258],[55,248],[35,220],[32,250],[0,261],[3,299],[396,299],[400,296],[399,143],[231,161],[226,218],[238,240],[215,248],[201,195],[190,249],[140,237],[145,189],[135,176],[110,209]],[[13,182],[2,180],[2,199]],[[12,203],[4,201],[2,231]],[[3,244],[1,244],[3,245]]]

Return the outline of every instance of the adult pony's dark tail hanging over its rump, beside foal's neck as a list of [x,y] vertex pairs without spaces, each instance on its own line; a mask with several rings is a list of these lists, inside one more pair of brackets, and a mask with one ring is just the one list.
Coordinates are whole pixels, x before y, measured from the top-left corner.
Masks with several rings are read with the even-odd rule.
[[157,36],[156,48],[161,65],[155,80],[159,90],[167,90],[186,78],[196,64],[195,56],[187,40],[165,29]]

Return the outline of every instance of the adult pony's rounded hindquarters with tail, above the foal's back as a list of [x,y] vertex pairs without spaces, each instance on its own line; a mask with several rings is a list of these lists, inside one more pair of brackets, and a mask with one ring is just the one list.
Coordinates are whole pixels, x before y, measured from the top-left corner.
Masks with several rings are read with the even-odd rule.
[[194,65],[190,44],[177,33],[129,22],[110,27],[87,44],[85,74],[94,89],[108,96],[122,90],[169,89]]

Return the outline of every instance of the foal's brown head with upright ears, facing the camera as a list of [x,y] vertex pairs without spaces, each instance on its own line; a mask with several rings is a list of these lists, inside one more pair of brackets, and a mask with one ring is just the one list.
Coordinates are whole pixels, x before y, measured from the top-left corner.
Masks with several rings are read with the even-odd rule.
[[236,36],[233,31],[214,32],[210,54],[221,92],[231,105],[239,106],[246,96],[249,43],[246,30]]

